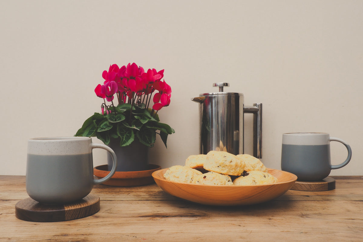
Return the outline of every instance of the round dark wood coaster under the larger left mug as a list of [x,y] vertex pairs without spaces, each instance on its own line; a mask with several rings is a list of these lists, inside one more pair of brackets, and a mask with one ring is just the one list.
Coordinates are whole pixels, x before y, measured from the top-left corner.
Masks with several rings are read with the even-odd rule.
[[99,211],[99,197],[89,194],[78,202],[46,205],[25,198],[15,205],[15,216],[32,222],[58,222],[84,218]]

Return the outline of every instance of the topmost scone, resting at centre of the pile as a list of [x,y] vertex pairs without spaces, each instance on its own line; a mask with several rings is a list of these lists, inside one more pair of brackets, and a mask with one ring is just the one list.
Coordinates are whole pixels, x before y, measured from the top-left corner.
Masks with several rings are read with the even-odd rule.
[[224,175],[240,176],[244,171],[245,162],[225,151],[209,151],[203,168]]

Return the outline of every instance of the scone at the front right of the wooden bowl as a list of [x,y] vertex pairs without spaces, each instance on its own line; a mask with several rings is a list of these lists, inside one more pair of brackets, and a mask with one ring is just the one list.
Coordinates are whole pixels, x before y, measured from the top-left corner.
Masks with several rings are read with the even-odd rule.
[[234,179],[234,185],[261,185],[278,182],[277,178],[262,171],[245,172],[243,176]]

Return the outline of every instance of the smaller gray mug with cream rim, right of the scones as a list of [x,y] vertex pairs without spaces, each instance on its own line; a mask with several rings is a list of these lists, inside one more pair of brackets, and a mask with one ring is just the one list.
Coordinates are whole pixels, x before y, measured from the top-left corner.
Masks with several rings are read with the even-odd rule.
[[[347,159],[331,165],[330,141],[338,141],[348,150]],[[299,181],[320,181],[331,169],[342,168],[352,157],[350,146],[327,133],[288,133],[282,135],[281,169],[297,176]]]

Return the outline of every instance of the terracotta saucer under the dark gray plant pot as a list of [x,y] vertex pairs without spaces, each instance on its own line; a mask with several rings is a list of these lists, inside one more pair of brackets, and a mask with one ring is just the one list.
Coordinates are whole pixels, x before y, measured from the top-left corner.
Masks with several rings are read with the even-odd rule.
[[[154,183],[151,174],[154,171],[160,170],[160,165],[148,164],[148,170],[145,171],[117,171],[110,180],[103,182],[109,186],[142,186]],[[110,172],[107,171],[107,165],[99,165],[93,168],[93,174],[99,178],[107,176]]]

